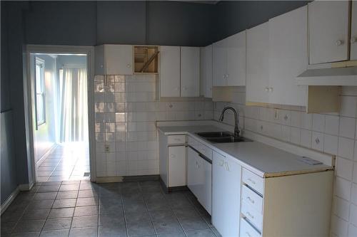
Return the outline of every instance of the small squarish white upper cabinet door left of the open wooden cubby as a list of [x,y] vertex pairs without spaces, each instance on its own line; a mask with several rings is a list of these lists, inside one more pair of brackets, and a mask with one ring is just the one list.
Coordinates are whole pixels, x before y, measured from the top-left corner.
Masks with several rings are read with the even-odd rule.
[[133,75],[133,46],[105,45],[106,74]]

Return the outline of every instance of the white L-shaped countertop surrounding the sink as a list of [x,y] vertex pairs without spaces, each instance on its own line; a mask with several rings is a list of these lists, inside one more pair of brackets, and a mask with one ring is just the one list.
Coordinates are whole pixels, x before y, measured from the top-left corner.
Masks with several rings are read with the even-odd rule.
[[322,172],[332,169],[326,164],[307,164],[298,160],[300,156],[283,151],[261,142],[211,143],[196,135],[196,132],[224,131],[215,126],[165,126],[158,127],[165,135],[186,134],[206,144],[216,152],[229,155],[261,177],[279,177],[283,175]]

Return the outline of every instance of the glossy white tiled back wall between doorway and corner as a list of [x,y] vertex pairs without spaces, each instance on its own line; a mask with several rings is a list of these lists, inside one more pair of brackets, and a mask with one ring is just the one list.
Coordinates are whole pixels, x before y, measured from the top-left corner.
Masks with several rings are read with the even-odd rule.
[[157,100],[156,83],[155,75],[95,77],[98,177],[159,174],[156,120],[213,118],[210,100]]

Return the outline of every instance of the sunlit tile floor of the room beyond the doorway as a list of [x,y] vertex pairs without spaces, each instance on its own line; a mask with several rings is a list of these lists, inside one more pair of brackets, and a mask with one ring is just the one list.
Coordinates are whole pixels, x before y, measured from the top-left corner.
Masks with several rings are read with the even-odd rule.
[[36,170],[36,181],[89,179],[89,149],[80,142],[59,144]]

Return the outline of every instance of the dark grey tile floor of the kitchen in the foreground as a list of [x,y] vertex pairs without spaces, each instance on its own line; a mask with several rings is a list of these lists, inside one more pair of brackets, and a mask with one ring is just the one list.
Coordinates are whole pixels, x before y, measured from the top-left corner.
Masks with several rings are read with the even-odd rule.
[[219,236],[190,191],[159,181],[47,181],[21,192],[1,216],[1,236]]

